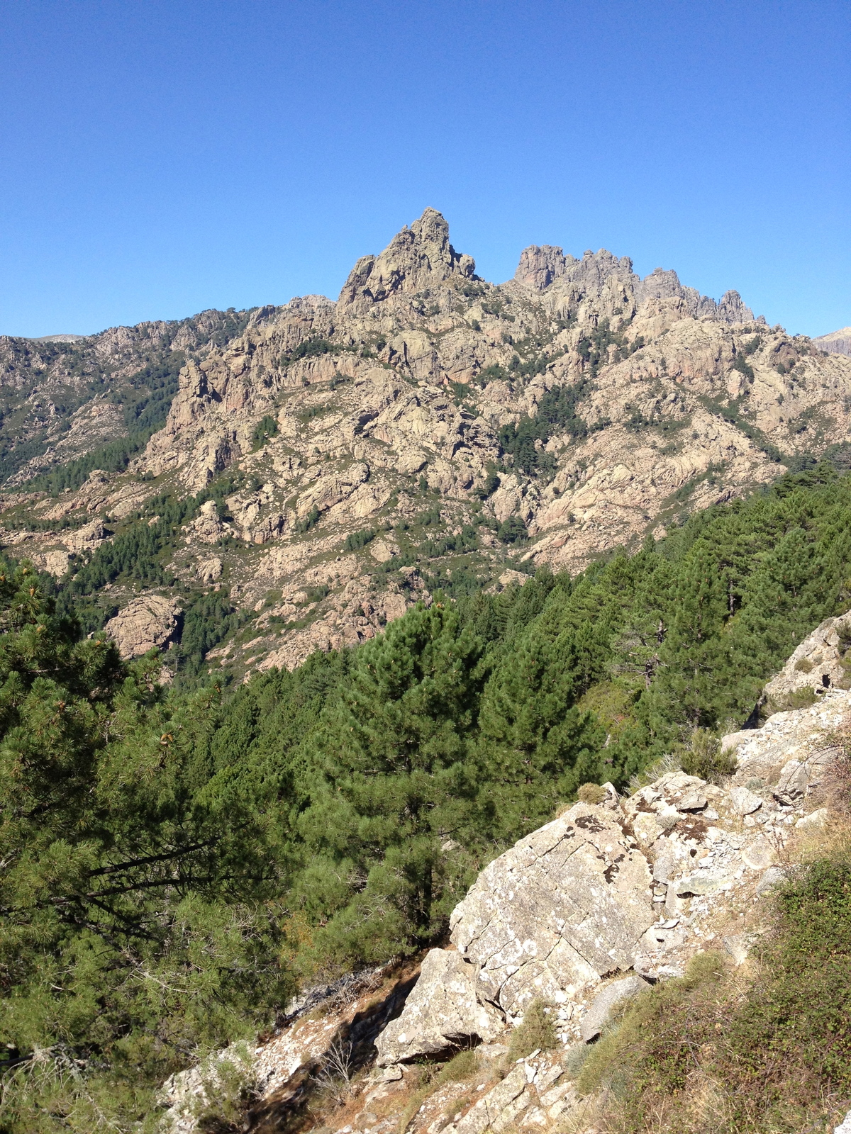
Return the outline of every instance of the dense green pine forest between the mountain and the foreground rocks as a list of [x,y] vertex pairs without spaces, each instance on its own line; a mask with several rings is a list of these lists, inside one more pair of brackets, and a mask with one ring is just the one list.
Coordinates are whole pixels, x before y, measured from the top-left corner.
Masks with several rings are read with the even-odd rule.
[[[130,1129],[199,1050],[318,974],[440,941],[480,868],[713,737],[851,606],[829,463],[574,578],[436,594],[233,695],[158,684],[0,574],[0,1129]],[[777,706],[774,706],[777,708]],[[144,1116],[149,1117],[145,1118]]]

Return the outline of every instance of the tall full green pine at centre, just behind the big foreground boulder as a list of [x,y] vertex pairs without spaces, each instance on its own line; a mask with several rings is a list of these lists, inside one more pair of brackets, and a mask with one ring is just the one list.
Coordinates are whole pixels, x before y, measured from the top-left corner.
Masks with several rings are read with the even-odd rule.
[[461,896],[482,655],[450,607],[418,604],[357,651],[309,747],[298,890],[336,896],[318,940],[340,964],[435,940]]

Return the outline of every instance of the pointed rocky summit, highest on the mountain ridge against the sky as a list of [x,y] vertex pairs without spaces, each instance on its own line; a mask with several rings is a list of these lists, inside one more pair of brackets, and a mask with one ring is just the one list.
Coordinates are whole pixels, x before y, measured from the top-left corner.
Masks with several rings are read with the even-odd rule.
[[380,303],[396,293],[415,293],[452,277],[472,279],[475,261],[449,244],[449,226],[436,209],[397,232],[379,256],[361,256],[339,295],[352,312]]

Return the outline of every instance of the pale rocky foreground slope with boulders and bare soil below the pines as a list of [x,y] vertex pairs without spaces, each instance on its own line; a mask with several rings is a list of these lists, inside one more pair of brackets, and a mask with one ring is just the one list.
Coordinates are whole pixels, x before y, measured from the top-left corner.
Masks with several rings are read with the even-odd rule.
[[[229,1069],[254,1099],[245,1129],[590,1134],[595,1100],[576,1078],[608,1022],[705,950],[745,964],[765,932],[764,899],[794,872],[801,839],[831,824],[823,788],[851,693],[795,665],[832,665],[849,627],[851,615],[828,619],[790,659],[814,703],[724,739],[731,777],[706,782],[671,764],[625,797],[585,790],[481,872],[419,970],[388,965],[314,989],[256,1047],[175,1076],[162,1131],[196,1129]],[[536,1004],[555,1048],[509,1059]],[[447,1060],[469,1049],[453,1077]]]

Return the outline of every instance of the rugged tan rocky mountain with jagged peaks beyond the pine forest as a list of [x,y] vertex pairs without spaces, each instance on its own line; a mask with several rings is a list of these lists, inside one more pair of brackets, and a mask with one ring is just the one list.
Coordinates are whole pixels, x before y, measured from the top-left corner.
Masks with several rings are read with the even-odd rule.
[[[579,570],[841,447],[851,412],[851,358],[768,327],[735,291],[716,303],[673,271],[642,280],[626,257],[550,246],[495,286],[431,209],[359,260],[336,302],[0,352],[8,420],[39,450],[15,457],[7,489],[146,435],[127,407],[153,396],[143,362],[166,373],[165,424],[128,467],[7,491],[0,539],[78,575],[92,626],[129,607],[110,623],[128,655],[179,648],[218,594],[230,613],[205,665],[237,679],[362,642],[437,587]],[[163,501],[183,501],[168,530]],[[154,566],[134,577],[116,564],[143,525],[159,525]],[[107,566],[84,586],[90,560]]]

